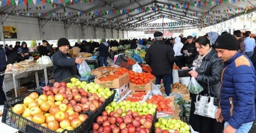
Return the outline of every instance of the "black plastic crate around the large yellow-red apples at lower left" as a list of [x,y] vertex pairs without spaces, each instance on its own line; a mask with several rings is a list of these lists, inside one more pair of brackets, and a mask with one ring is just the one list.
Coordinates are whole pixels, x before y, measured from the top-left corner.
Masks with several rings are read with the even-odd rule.
[[[37,92],[39,95],[42,94],[41,91],[37,91],[37,90],[33,92]],[[53,130],[50,130],[46,127],[41,126],[40,124],[36,124],[35,122],[32,122],[20,116],[19,114],[14,113],[11,110],[11,107],[13,107],[14,105],[23,103],[23,100],[25,99],[25,97],[29,96],[30,93],[26,93],[14,99],[5,101],[2,123],[5,123],[15,129],[18,129],[23,133],[57,133]],[[91,121],[91,114],[87,113],[87,115],[88,115],[88,118],[86,119],[86,121],[83,122],[81,125],[79,125],[76,129],[72,131],[65,129],[63,130],[62,133],[87,133],[88,132],[87,127]]]

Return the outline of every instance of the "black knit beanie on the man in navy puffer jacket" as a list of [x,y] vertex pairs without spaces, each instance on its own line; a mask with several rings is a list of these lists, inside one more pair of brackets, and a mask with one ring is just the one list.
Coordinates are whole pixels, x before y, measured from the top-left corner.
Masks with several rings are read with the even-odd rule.
[[227,50],[239,50],[239,44],[232,34],[221,34],[215,41],[215,48]]

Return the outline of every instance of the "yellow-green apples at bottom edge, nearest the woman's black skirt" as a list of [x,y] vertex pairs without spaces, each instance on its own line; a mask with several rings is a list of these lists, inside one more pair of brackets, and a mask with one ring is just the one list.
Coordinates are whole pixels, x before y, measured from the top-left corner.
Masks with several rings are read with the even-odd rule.
[[155,123],[155,133],[190,133],[190,126],[181,120],[160,117]]

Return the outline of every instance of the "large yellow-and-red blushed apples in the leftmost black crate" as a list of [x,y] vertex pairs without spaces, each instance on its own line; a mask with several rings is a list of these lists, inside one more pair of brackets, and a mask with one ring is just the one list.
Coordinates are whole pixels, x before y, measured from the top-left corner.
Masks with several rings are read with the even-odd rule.
[[39,96],[36,92],[32,92],[24,98],[22,104],[16,104],[12,110],[28,120],[59,133],[65,129],[74,130],[88,116],[74,112],[71,106],[59,101],[60,98],[59,95]]

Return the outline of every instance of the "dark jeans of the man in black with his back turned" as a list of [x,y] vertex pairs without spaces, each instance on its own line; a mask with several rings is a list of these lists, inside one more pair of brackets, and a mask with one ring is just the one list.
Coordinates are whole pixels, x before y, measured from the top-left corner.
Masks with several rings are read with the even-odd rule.
[[163,79],[165,94],[169,96],[171,93],[171,74],[155,76],[155,84],[160,84]]

